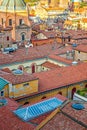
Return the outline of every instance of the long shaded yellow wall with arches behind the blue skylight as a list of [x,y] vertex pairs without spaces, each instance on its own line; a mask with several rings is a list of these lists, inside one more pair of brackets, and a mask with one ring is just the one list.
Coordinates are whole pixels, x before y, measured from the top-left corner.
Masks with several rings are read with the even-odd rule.
[[24,105],[25,103],[32,104],[32,103],[36,103],[36,102],[43,100],[42,97],[46,97],[45,99],[47,99],[47,98],[51,98],[53,96],[56,96],[59,92],[62,92],[62,95],[64,97],[71,99],[72,89],[76,88],[76,90],[82,90],[86,84],[87,84],[87,82],[85,82],[85,83],[82,82],[82,83],[66,86],[64,88],[55,89],[55,90],[51,90],[51,91],[48,91],[45,93],[41,93],[41,94],[37,94],[37,95],[31,96],[31,97],[27,97],[25,99],[19,100],[18,102],[22,105]]

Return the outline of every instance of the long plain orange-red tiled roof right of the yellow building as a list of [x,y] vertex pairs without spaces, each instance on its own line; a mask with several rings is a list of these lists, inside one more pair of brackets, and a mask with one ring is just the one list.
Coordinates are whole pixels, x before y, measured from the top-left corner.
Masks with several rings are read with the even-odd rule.
[[76,66],[61,67],[46,72],[35,73],[39,78],[39,92],[60,88],[69,84],[75,84],[87,80],[87,63]]

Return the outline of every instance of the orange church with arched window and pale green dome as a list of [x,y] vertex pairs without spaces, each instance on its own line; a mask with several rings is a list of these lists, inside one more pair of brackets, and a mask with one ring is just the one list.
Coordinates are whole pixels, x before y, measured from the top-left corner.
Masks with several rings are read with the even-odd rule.
[[1,2],[0,25],[3,28],[12,27],[12,42],[24,42],[30,39],[30,22],[24,0],[3,0]]

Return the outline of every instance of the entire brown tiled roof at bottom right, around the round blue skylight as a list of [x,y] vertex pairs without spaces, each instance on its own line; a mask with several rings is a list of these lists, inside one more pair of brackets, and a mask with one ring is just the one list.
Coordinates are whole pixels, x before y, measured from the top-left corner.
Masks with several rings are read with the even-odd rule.
[[87,104],[84,104],[83,110],[75,110],[72,103],[67,102],[63,108],[60,107],[60,112],[48,120],[40,130],[86,130]]

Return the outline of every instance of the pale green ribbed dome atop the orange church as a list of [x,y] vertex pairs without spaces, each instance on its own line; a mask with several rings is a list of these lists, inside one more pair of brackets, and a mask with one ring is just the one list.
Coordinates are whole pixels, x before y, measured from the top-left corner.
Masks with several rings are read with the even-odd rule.
[[3,0],[0,5],[0,11],[3,12],[14,12],[14,11],[25,11],[26,4],[24,0]]

